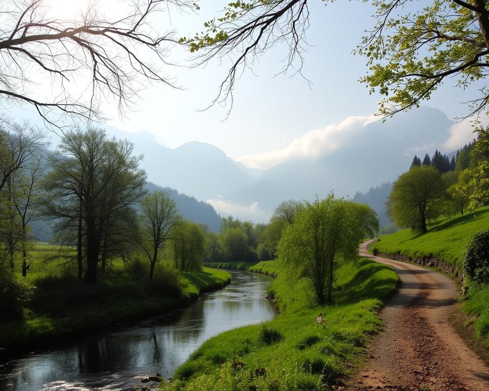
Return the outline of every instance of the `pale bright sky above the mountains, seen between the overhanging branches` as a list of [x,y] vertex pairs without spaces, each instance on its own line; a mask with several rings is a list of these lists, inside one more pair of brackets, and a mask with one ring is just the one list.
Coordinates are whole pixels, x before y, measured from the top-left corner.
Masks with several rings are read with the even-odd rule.
[[[74,8],[83,7],[87,0],[48,1],[51,12],[68,15]],[[119,3],[100,1],[105,9],[122,12],[123,9],[115,7]],[[203,21],[219,15],[226,3],[201,0],[199,14],[161,14],[153,23],[159,30],[177,31],[176,36],[193,36],[203,30]],[[291,157],[314,155],[321,148],[336,148],[342,142],[342,129],[358,121],[371,122],[377,111],[380,97],[369,95],[367,87],[358,81],[367,70],[366,59],[352,54],[364,30],[374,24],[371,17],[374,10],[364,2],[326,4],[321,0],[311,0],[309,8],[309,48],[304,53],[303,74],[310,83],[300,75],[293,76],[293,72],[277,75],[287,54],[286,46],[277,45],[263,54],[252,69],[244,69],[236,82],[234,105],[228,117],[229,106],[216,105],[201,111],[215,98],[229,60],[188,68],[192,55],[177,48],[169,52],[168,60],[178,66],[167,67],[164,72],[181,89],[162,84],[145,86],[135,109],[126,112],[124,118],[114,105],[106,104],[108,124],[131,132],[147,130],[160,144],[170,148],[189,141],[210,143],[233,159],[259,168]],[[474,90],[464,92],[446,83],[427,103],[451,119],[463,116],[468,108],[461,101],[473,97]],[[460,145],[473,138],[468,130],[470,124],[458,125],[456,129],[460,133],[453,139],[459,140]]]

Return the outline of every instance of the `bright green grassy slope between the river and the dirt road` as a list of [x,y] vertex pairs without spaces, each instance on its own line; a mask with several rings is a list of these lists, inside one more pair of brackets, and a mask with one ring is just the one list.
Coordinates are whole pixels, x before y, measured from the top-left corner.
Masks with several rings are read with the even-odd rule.
[[[397,283],[394,271],[362,259],[338,270],[334,305],[310,308],[302,284],[291,289],[274,261],[256,267],[278,273],[270,291],[281,314],[265,324],[234,329],[206,341],[177,369],[174,380],[162,385],[164,389],[320,389],[360,364],[363,342],[381,327],[376,314],[382,300]],[[314,321],[320,312],[323,325]],[[274,330],[283,339],[268,344]]]

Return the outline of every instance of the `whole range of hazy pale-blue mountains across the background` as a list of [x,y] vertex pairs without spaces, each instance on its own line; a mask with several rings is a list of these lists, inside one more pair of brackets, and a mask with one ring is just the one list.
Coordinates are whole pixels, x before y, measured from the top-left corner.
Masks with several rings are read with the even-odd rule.
[[[409,168],[414,154],[446,150],[454,124],[430,107],[400,113],[386,122],[364,123],[343,129],[341,142],[335,145],[315,131],[320,138],[310,143],[315,143],[312,157],[290,153],[291,158],[267,170],[250,169],[210,144],[190,142],[171,149],[156,143],[147,131],[108,129],[129,138],[135,152],[145,155],[142,165],[150,181],[208,201],[222,215],[265,221],[283,200],[313,200],[316,194],[321,198],[331,191],[338,197],[352,197],[357,191],[394,181]],[[318,151],[320,143],[323,151]]]

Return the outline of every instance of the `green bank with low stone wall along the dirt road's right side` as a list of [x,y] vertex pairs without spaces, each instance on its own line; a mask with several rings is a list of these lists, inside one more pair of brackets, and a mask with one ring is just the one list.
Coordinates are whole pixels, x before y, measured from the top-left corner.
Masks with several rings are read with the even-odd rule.
[[[488,225],[489,207],[482,207],[464,216],[440,219],[424,235],[406,229],[382,236],[372,243],[370,252],[423,266],[438,266],[460,281],[463,279],[460,263],[467,243],[474,233],[486,230]],[[454,323],[471,346],[483,346],[478,352],[489,357],[489,286],[465,283],[468,293],[460,297],[465,316],[454,315]]]

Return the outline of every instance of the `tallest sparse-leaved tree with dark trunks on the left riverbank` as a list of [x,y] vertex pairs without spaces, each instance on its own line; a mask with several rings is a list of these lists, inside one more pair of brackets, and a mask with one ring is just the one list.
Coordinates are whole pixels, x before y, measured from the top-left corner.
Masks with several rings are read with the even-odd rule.
[[61,219],[62,232],[76,231],[78,277],[85,254],[88,283],[97,281],[102,243],[114,216],[146,192],[146,173],[139,168],[142,157],[132,156],[132,151],[132,143],[109,139],[103,129],[77,128],[65,132],[58,153],[49,157],[44,214]]

